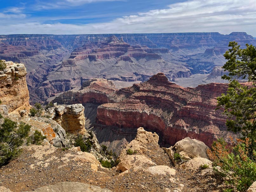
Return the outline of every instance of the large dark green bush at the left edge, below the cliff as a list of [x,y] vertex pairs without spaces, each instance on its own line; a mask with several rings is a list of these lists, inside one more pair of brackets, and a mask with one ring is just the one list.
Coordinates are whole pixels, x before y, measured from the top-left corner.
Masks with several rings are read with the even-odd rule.
[[4,122],[0,127],[0,166],[8,163],[17,157],[21,149],[19,148],[30,131],[30,125],[21,122],[17,125],[8,118],[4,118]]

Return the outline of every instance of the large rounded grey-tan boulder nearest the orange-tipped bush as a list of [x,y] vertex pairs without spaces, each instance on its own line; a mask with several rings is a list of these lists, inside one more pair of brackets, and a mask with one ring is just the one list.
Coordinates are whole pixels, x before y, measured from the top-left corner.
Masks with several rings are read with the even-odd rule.
[[178,153],[183,159],[192,159],[194,157],[207,157],[207,149],[209,149],[204,142],[196,139],[186,137],[181,141],[178,141],[174,146],[173,150]]

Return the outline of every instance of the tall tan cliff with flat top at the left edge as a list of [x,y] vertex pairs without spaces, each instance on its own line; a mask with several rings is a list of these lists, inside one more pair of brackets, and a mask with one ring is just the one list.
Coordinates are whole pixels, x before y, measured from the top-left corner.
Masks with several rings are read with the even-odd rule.
[[0,71],[0,98],[8,111],[18,113],[30,109],[29,90],[26,83],[26,68],[22,63],[5,61],[6,68]]

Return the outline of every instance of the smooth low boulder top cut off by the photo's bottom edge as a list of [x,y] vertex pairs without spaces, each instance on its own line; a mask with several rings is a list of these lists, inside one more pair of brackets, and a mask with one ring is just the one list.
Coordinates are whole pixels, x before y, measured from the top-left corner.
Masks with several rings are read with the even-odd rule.
[[46,192],[46,191],[51,191],[51,192],[112,192],[109,189],[102,189],[100,187],[90,185],[90,184],[85,184],[85,183],[80,183],[80,182],[60,182],[55,185],[49,185],[45,187],[40,187],[33,192]]

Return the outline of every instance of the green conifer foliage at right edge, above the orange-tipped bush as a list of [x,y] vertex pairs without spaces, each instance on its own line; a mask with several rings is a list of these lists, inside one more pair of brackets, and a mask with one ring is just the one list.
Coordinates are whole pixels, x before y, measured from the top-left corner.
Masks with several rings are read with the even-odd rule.
[[[242,131],[244,136],[250,138],[255,135],[256,130],[256,86],[240,84],[236,78],[248,78],[248,81],[256,80],[256,47],[246,44],[246,49],[240,49],[236,42],[230,42],[232,47],[224,54],[228,60],[222,67],[228,70],[229,76],[223,79],[232,80],[229,83],[227,94],[218,97],[218,106],[224,107],[224,113],[228,116],[226,125],[228,129]],[[254,142],[254,141],[253,141]]]

